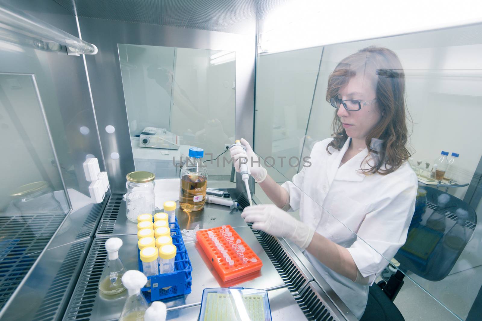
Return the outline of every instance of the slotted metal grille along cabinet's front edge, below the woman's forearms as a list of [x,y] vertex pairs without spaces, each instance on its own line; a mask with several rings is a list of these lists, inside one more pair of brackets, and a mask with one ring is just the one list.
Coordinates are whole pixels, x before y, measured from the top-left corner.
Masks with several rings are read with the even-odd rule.
[[[238,210],[242,213],[244,207],[249,205],[244,195],[237,200]],[[269,259],[286,284],[286,287],[293,295],[296,303],[301,308],[308,320],[333,321],[329,310],[321,302],[320,297],[313,290],[306,277],[300,272],[293,260],[281,247],[279,241],[263,232],[253,230],[252,223],[248,223],[259,244],[263,247]]]

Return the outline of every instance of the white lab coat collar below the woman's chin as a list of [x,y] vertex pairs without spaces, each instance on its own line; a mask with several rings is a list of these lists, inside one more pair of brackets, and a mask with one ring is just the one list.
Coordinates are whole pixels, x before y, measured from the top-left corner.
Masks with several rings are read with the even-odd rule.
[[[360,164],[363,159],[368,155],[368,149],[362,150],[360,153],[352,157],[348,162],[343,164],[341,167],[340,162],[343,155],[348,150],[351,138],[345,141],[345,144],[340,151],[335,150],[333,154],[328,157],[327,168],[328,168],[328,182],[331,185],[333,180],[348,180],[348,181],[362,181],[365,178],[365,174],[360,170]],[[339,168],[338,168],[339,167]],[[366,167],[366,165],[365,165]]]

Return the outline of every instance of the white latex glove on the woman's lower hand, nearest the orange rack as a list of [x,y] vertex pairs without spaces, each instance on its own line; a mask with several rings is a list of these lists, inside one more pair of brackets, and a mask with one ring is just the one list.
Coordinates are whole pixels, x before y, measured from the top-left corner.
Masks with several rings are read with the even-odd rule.
[[292,240],[302,251],[311,243],[315,232],[273,204],[248,206],[244,208],[241,217],[247,223],[252,222],[255,230]]

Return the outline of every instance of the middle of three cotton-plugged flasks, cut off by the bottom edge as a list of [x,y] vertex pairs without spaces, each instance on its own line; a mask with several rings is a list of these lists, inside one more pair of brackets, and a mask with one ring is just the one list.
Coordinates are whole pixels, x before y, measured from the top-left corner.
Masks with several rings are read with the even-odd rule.
[[128,270],[122,276],[122,283],[128,294],[119,321],[143,321],[149,306],[141,288],[147,283],[147,277],[140,271]]

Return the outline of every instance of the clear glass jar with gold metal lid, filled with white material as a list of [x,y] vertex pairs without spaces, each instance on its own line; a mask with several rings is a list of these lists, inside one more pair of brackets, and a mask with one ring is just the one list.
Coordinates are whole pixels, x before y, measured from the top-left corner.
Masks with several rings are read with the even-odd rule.
[[145,171],[135,171],[127,174],[126,216],[137,223],[140,214],[154,215],[154,174]]

